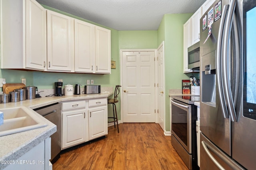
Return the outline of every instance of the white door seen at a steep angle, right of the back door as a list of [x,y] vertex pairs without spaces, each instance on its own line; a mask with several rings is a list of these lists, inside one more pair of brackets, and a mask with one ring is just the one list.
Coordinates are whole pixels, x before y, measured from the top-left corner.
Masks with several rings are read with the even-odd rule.
[[158,60],[158,123],[165,129],[165,98],[164,98],[164,42],[157,49]]

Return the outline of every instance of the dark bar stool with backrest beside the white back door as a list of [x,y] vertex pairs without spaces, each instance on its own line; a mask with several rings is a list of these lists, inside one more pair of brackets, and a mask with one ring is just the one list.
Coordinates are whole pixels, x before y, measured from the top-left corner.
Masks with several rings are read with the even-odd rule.
[[116,85],[115,92],[114,92],[114,98],[113,99],[108,99],[108,104],[112,104],[112,106],[113,106],[113,116],[114,116],[114,117],[108,117],[108,119],[113,119],[113,121],[108,121],[108,123],[114,122],[114,127],[116,127],[116,125],[117,125],[118,133],[119,133],[118,119],[117,119],[117,114],[115,112],[116,112],[116,103],[118,103],[118,100],[116,98],[117,98],[117,96],[120,92],[120,87],[122,87],[122,86]]

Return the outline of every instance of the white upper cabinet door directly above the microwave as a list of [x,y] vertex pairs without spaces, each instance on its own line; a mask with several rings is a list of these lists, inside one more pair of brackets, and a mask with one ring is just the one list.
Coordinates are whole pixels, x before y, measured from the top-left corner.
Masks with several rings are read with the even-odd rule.
[[202,17],[202,7],[191,16],[191,45],[200,41],[200,18]]

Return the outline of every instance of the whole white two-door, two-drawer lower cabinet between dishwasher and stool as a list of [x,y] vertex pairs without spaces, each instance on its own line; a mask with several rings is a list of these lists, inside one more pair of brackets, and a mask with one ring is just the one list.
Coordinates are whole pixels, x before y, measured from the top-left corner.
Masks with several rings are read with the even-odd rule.
[[62,150],[107,134],[107,98],[62,103]]

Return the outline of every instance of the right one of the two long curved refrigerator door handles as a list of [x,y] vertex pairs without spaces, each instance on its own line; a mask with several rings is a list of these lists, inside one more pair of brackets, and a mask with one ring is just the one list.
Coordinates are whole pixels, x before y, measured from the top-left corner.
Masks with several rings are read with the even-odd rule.
[[224,95],[226,96],[226,105],[228,107],[228,111],[230,113],[231,121],[237,121],[236,111],[233,103],[231,85],[230,85],[230,34],[231,34],[231,26],[233,22],[234,10],[236,7],[236,0],[231,0],[230,8],[228,10],[226,25],[224,27],[224,43],[222,46],[223,57],[222,57],[222,75],[223,75],[223,87],[224,87]]

